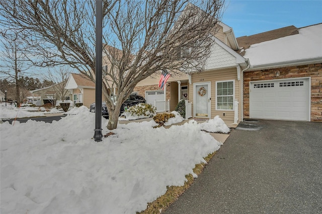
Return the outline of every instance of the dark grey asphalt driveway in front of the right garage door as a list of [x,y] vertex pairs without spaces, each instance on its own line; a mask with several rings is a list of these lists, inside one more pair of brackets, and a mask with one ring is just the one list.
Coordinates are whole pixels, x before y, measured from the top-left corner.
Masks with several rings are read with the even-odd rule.
[[322,123],[243,124],[164,213],[322,213]]

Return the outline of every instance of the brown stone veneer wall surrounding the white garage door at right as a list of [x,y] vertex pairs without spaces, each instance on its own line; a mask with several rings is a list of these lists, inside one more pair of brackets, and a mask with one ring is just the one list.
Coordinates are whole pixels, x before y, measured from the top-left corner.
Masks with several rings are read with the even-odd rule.
[[[279,71],[280,76],[275,77]],[[293,66],[244,73],[244,118],[250,117],[250,81],[311,77],[311,121],[322,122],[322,64]]]

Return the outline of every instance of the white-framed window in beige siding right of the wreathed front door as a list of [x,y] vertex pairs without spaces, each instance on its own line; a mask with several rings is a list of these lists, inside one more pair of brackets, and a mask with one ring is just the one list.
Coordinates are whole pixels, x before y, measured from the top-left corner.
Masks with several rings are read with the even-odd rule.
[[216,82],[216,110],[233,110],[234,80]]

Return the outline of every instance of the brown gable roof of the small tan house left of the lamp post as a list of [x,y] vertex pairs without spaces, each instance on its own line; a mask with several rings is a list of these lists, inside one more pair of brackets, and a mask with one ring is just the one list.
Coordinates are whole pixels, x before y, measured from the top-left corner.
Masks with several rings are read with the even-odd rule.
[[95,88],[95,83],[84,74],[71,73],[66,83],[65,89],[74,88]]

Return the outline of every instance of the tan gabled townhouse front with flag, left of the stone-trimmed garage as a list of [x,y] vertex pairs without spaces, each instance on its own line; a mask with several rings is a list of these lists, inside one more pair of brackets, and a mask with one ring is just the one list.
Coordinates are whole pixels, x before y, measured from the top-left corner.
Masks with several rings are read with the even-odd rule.
[[250,66],[249,61],[236,53],[238,44],[229,26],[219,23],[214,36],[216,43],[204,72],[172,76],[164,90],[158,88],[159,75],[152,75],[139,82],[134,91],[148,103],[169,100],[170,111],[185,99],[192,103],[192,117],[209,119],[219,115],[228,124],[240,121],[241,73]]

